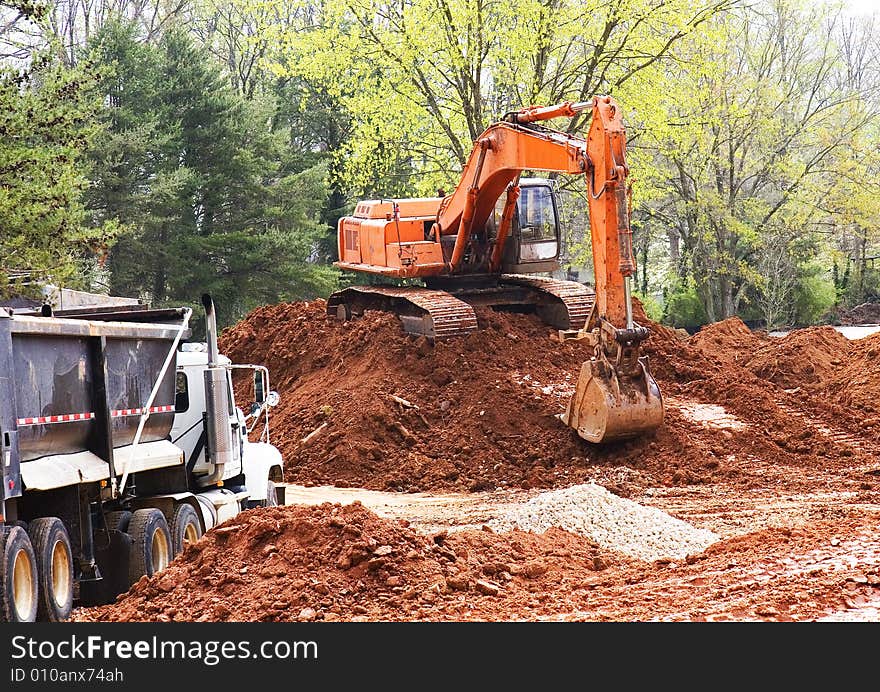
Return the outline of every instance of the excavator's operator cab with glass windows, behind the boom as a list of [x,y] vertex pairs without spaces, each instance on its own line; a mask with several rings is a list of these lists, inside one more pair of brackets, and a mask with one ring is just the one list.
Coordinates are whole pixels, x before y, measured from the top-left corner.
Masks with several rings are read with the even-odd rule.
[[[559,269],[561,231],[557,183],[549,178],[521,178],[502,271],[536,274]],[[496,226],[504,210],[504,196],[495,205]]]

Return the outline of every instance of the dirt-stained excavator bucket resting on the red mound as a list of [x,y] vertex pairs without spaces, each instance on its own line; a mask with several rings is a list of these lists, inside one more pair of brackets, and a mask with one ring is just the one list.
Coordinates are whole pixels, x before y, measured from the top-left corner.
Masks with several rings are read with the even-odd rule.
[[577,388],[560,419],[588,442],[608,442],[651,432],[663,423],[663,398],[645,359],[634,376],[622,376],[595,358],[581,366]]

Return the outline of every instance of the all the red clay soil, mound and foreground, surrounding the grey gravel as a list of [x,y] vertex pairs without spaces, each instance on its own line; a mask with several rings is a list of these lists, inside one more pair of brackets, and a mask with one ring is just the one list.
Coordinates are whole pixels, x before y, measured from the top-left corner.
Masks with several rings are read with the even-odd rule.
[[561,529],[423,535],[358,503],[257,509],[74,619],[880,620],[880,334],[776,338],[734,318],[682,338],[637,312],[666,420],[594,446],[555,417],[585,344],[526,315],[479,318],[432,346],[388,315],[341,324],[321,301],[282,304],[221,346],[272,373],[287,481],[474,491],[598,477],[722,540],[643,562]]

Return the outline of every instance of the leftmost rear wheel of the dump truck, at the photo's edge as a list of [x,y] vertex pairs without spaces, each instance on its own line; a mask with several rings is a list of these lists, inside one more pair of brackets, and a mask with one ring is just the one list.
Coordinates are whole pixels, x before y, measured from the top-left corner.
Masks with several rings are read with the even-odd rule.
[[0,621],[34,622],[37,619],[37,558],[27,532],[8,529],[0,547]]

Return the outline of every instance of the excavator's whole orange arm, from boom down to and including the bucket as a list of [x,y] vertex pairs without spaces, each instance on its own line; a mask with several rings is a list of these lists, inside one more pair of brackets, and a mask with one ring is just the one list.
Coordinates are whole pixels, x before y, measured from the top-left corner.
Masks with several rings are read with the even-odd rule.
[[[587,138],[536,125],[592,109]],[[474,143],[458,186],[445,197],[432,228],[436,240],[455,236],[447,256],[450,274],[460,270],[474,232],[485,228],[496,201],[507,191],[489,269],[497,271],[523,171],[554,171],[585,178],[596,302],[584,336],[594,355],[581,368],[575,392],[560,419],[591,442],[633,437],[663,421],[660,389],[640,344],[648,330],[633,321],[630,277],[635,273],[626,130],[610,96],[566,101],[509,113]]]

